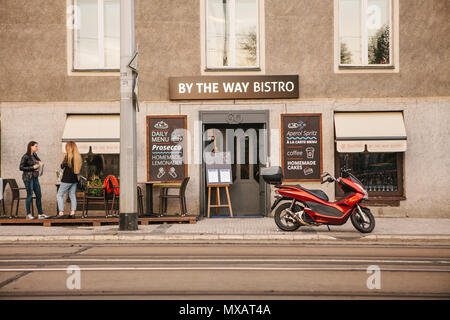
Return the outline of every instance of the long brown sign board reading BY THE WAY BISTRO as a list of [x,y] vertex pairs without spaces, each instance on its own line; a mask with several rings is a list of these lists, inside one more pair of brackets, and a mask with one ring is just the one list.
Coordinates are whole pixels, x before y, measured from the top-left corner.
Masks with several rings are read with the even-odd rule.
[[298,98],[298,75],[169,78],[170,100]]

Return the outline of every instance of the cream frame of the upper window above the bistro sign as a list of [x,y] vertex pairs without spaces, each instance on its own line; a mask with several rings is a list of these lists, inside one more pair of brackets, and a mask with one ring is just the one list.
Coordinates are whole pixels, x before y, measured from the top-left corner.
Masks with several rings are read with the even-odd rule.
[[[264,55],[264,0],[255,0],[257,5],[257,26],[256,26],[256,66],[222,66],[222,67],[209,67],[208,66],[208,1],[201,0],[200,5],[200,16],[201,16],[201,55],[202,55],[202,75],[215,73],[217,75],[226,75],[230,72],[235,74],[264,74],[265,73],[265,55]],[[235,3],[237,0],[231,0],[232,7],[235,8]],[[231,10],[230,20],[235,21],[235,10]],[[235,23],[232,24],[232,29],[234,29]],[[230,43],[234,45],[235,33],[230,33]],[[230,50],[231,51],[231,50]],[[232,56],[235,57],[236,51],[233,50]]]

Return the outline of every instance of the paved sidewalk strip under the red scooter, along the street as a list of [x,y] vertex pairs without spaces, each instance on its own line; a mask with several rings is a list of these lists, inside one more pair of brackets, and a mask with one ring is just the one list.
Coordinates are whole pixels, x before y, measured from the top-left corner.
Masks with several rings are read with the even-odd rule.
[[350,221],[343,226],[301,227],[280,231],[273,218],[211,218],[196,224],[139,225],[137,231],[119,231],[118,225],[86,226],[0,226],[0,243],[16,241],[109,242],[144,241],[153,243],[188,242],[437,242],[450,245],[450,219],[375,218],[372,233],[358,232]]

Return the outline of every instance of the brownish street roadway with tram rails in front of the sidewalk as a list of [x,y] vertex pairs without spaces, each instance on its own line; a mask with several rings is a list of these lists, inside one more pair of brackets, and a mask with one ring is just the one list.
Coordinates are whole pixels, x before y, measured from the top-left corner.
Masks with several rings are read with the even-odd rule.
[[[69,266],[81,290],[66,290]],[[366,288],[369,266],[381,290]],[[0,277],[0,299],[449,299],[450,248],[12,245]]]

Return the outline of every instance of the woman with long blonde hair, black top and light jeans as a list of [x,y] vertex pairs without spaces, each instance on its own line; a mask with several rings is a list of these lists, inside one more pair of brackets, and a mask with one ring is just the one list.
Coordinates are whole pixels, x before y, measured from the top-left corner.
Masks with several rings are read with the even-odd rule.
[[59,213],[56,218],[64,218],[64,195],[69,192],[71,209],[69,218],[75,217],[75,211],[77,210],[77,198],[75,192],[77,191],[78,176],[81,171],[81,165],[83,161],[81,159],[78,147],[73,141],[66,143],[66,153],[64,153],[63,162],[61,163],[61,169],[64,169],[61,179],[61,186],[59,187],[58,194],[56,196],[58,200]]

